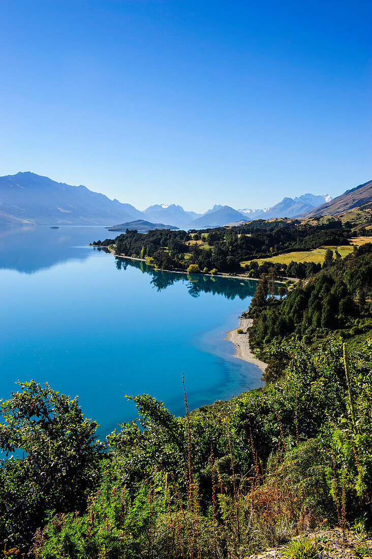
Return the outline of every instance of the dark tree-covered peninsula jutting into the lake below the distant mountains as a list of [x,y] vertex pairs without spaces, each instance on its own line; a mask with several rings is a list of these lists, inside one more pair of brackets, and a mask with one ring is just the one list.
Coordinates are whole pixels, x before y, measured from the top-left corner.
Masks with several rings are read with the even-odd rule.
[[219,272],[241,272],[241,263],[253,258],[271,257],[293,249],[319,246],[346,246],[351,230],[341,221],[316,226],[300,226],[292,221],[254,221],[232,228],[204,231],[149,231],[147,235],[127,231],[115,239],[98,240],[97,246],[115,245],[115,253],[137,258],[152,258],[159,268],[187,269],[197,264]]

